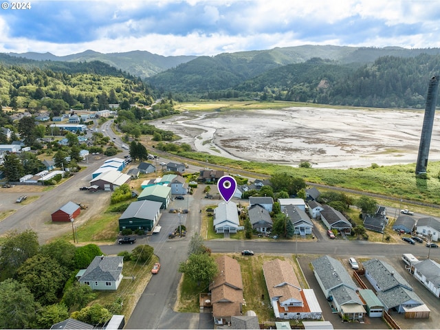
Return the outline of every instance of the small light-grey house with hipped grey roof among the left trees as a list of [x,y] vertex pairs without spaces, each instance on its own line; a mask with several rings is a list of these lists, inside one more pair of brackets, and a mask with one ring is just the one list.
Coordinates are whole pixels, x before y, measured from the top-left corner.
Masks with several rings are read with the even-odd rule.
[[80,277],[80,283],[94,290],[116,290],[122,281],[123,256],[96,256]]

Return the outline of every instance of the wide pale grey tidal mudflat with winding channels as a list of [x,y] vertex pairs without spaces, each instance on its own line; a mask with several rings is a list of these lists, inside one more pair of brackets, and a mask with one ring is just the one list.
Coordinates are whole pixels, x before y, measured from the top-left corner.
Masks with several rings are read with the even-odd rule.
[[[283,110],[182,113],[153,122],[197,151],[232,159],[314,168],[417,161],[424,111],[292,107]],[[439,119],[430,161],[440,160]]]

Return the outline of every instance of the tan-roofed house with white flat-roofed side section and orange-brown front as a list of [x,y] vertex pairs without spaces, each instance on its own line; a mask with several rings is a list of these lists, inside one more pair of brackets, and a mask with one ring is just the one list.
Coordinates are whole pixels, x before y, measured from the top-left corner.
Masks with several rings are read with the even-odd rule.
[[322,317],[314,290],[300,287],[289,261],[266,261],[263,276],[276,318],[319,320]]

